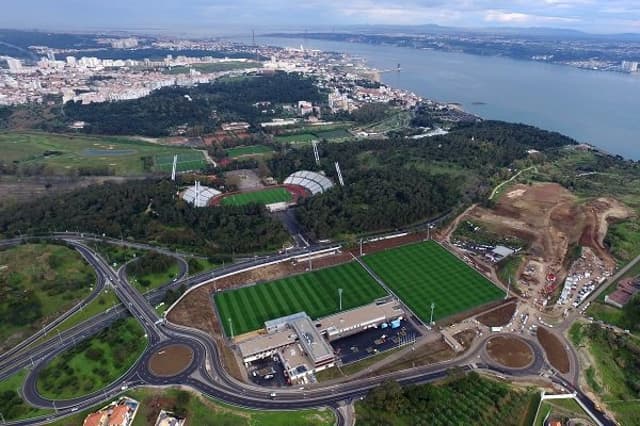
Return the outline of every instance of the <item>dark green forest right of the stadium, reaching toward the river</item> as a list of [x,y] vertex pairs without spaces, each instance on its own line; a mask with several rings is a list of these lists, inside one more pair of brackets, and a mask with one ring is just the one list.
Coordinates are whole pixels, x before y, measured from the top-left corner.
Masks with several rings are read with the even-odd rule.
[[458,204],[485,198],[491,178],[527,158],[527,151],[551,153],[575,143],[558,133],[497,121],[459,125],[428,140],[396,138],[321,143],[321,166],[310,148],[276,154],[269,167],[282,180],[296,170],[326,170],[344,187],[305,200],[301,224],[319,238],[349,232],[395,229],[438,216]]

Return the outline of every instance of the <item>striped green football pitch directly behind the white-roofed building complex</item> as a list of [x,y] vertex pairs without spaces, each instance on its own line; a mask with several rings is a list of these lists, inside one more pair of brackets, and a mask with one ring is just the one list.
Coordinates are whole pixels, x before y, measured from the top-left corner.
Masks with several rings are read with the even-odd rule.
[[386,292],[357,263],[320,269],[301,275],[230,290],[215,295],[227,334],[257,330],[267,320],[305,311],[311,318],[338,312],[338,288],[343,288],[342,308],[373,302]]

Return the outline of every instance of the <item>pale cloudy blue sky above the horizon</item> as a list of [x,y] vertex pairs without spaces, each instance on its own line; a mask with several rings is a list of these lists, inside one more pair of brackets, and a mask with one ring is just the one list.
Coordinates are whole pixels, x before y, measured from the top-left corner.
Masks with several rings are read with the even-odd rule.
[[640,0],[3,0],[0,26],[222,33],[349,24],[640,33]]

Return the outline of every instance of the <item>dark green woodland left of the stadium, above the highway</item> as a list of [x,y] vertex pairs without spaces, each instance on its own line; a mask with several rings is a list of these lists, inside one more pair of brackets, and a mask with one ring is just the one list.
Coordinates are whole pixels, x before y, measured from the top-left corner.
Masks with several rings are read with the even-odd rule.
[[0,211],[0,234],[83,231],[195,249],[245,253],[280,247],[282,225],[258,205],[193,208],[170,181],[105,183]]

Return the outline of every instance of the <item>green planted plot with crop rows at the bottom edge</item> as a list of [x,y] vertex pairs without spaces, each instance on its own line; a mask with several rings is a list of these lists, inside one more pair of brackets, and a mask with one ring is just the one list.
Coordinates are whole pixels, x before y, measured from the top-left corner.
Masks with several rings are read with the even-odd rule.
[[443,384],[400,388],[384,382],[356,403],[358,426],[530,426],[539,394],[477,373]]

